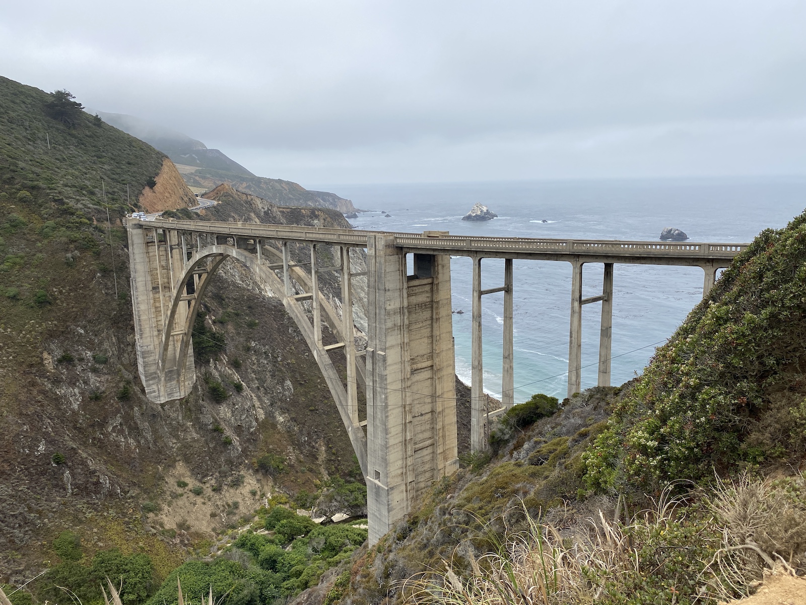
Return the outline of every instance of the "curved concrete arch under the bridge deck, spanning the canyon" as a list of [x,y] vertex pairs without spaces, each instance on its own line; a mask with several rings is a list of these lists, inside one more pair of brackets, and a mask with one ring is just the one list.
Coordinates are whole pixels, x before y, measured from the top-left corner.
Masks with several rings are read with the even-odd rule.
[[[354,423],[351,419],[350,411],[347,408],[347,391],[344,388],[341,378],[339,378],[339,373],[333,361],[330,360],[330,356],[327,354],[325,348],[316,343],[314,328],[300,301],[293,298],[293,296],[286,296],[285,285],[280,281],[280,278],[276,276],[272,269],[261,264],[258,258],[251,254],[251,252],[243,248],[235,248],[235,246],[229,244],[210,245],[194,253],[182,267],[181,276],[172,290],[171,306],[169,307],[167,319],[164,323],[162,342],[158,353],[158,365],[160,369],[163,370],[161,374],[164,376],[164,370],[170,365],[177,369],[180,378],[189,378],[190,383],[195,381],[195,376],[182,376],[185,372],[194,369],[194,365],[188,363],[188,354],[193,338],[193,323],[196,321],[199,308],[202,304],[202,298],[204,297],[207,287],[210,285],[210,279],[218,270],[218,267],[222,265],[223,261],[226,261],[226,259],[230,257],[239,261],[242,265],[246,266],[247,269],[250,269],[260,282],[263,282],[265,286],[268,286],[269,290],[278,295],[285,306],[285,310],[294,320],[294,323],[297,324],[297,328],[300,329],[302,336],[305,338],[305,343],[308,344],[308,348],[310,348],[311,353],[314,355],[314,360],[317,362],[319,370],[322,372],[322,377],[325,379],[330,389],[330,394],[333,395],[336,407],[339,409],[339,415],[341,416],[344,427],[347,428],[347,434],[350,436],[355,456],[358,458],[359,465],[361,466],[361,472],[364,474],[364,477],[366,477],[367,436],[364,435],[364,429],[361,428],[360,424]],[[194,275],[198,275],[199,279],[197,282],[193,282],[193,294],[186,294],[188,284]],[[177,321],[177,310],[180,308],[181,303],[185,301],[189,303],[189,310],[185,316],[185,325],[174,326],[174,323]],[[322,307],[324,307],[326,315],[330,315],[332,319],[335,313],[332,307],[327,303],[322,304]],[[178,343],[175,340],[177,337],[180,337]],[[174,347],[171,347],[172,342],[175,345]],[[174,355],[170,355],[172,351]]]

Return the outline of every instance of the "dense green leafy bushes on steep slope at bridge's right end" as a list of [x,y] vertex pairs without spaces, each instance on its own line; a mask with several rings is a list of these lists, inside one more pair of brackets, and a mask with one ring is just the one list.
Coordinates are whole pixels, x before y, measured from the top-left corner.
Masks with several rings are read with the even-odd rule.
[[806,215],[762,232],[658,349],[586,454],[589,485],[656,490],[806,452]]

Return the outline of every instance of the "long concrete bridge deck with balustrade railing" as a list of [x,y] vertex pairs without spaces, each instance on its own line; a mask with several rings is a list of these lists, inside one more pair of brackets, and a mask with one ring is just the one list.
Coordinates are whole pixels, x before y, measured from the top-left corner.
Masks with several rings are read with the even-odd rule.
[[[130,219],[131,220],[131,219]],[[531,237],[451,236],[445,232],[401,233],[294,227],[261,223],[230,223],[150,219],[143,227],[165,227],[188,232],[217,233],[266,240],[366,247],[368,236],[394,236],[395,245],[406,252],[451,254],[460,257],[525,258],[570,260],[589,257],[589,262],[616,261],[648,264],[699,264],[702,261],[729,261],[749,244],[661,242],[627,240],[552,240]],[[594,260],[596,258],[596,260]]]

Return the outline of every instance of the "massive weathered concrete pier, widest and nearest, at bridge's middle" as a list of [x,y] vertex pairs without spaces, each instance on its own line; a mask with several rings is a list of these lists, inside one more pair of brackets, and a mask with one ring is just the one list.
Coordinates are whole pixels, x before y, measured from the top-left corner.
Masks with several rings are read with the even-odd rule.
[[369,543],[393,528],[434,480],[459,467],[451,259],[405,255],[394,236],[368,238]]

